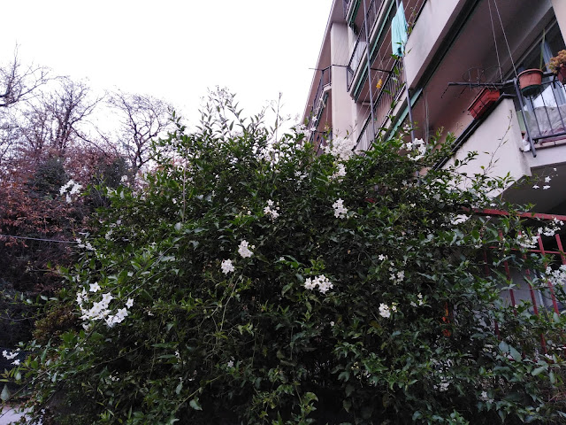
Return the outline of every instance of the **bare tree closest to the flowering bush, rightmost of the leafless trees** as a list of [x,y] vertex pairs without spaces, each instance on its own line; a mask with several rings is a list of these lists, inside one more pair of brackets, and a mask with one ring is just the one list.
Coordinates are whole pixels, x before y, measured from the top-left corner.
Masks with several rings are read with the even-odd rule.
[[172,129],[172,105],[157,97],[122,91],[115,92],[109,104],[119,114],[119,143],[135,174],[152,158],[151,141]]

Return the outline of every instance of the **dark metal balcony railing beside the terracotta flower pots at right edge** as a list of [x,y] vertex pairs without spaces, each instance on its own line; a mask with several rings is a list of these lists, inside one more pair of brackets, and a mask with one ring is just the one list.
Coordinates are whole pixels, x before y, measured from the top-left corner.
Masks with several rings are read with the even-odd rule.
[[537,94],[520,96],[524,124],[534,143],[566,138],[566,89],[562,83],[546,75]]

